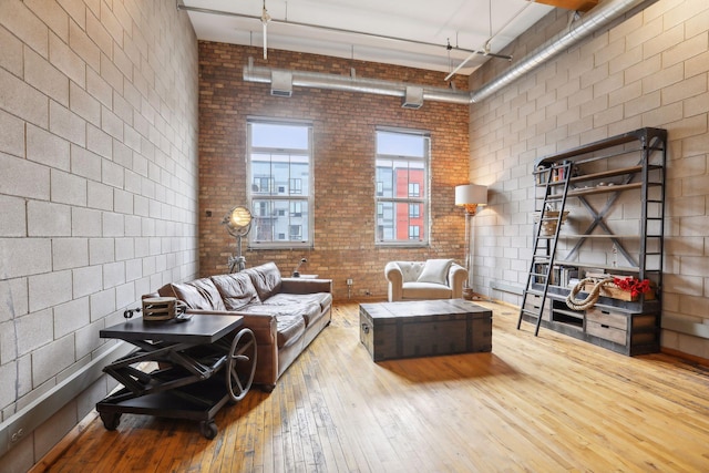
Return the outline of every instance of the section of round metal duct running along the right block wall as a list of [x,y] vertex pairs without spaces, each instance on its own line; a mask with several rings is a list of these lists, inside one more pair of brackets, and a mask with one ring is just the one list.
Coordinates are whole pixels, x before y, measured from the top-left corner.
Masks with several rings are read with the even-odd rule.
[[657,0],[606,0],[577,22],[573,23],[568,30],[556,34],[544,44],[532,51],[520,60],[516,64],[503,72],[501,75],[487,82],[476,91],[470,92],[471,103],[480,102],[511,84],[527,72],[546,63],[551,59],[578,44],[586,37],[608,28],[610,23],[626,14],[635,8],[646,9]]

